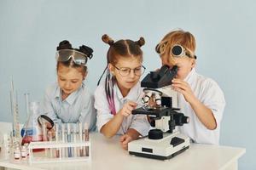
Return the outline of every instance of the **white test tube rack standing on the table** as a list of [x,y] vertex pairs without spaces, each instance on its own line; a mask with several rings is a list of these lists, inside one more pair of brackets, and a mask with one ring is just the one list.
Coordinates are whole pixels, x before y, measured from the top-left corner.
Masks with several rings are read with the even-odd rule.
[[[28,145],[29,150],[29,164],[32,163],[48,163],[48,162],[67,162],[67,161],[90,161],[91,150],[90,140],[83,142],[55,142],[55,141],[44,141],[44,142],[31,142]],[[44,150],[35,152],[33,150]],[[56,150],[58,156],[56,156]],[[69,155],[69,150],[73,150]],[[79,150],[82,151],[79,153]]]

